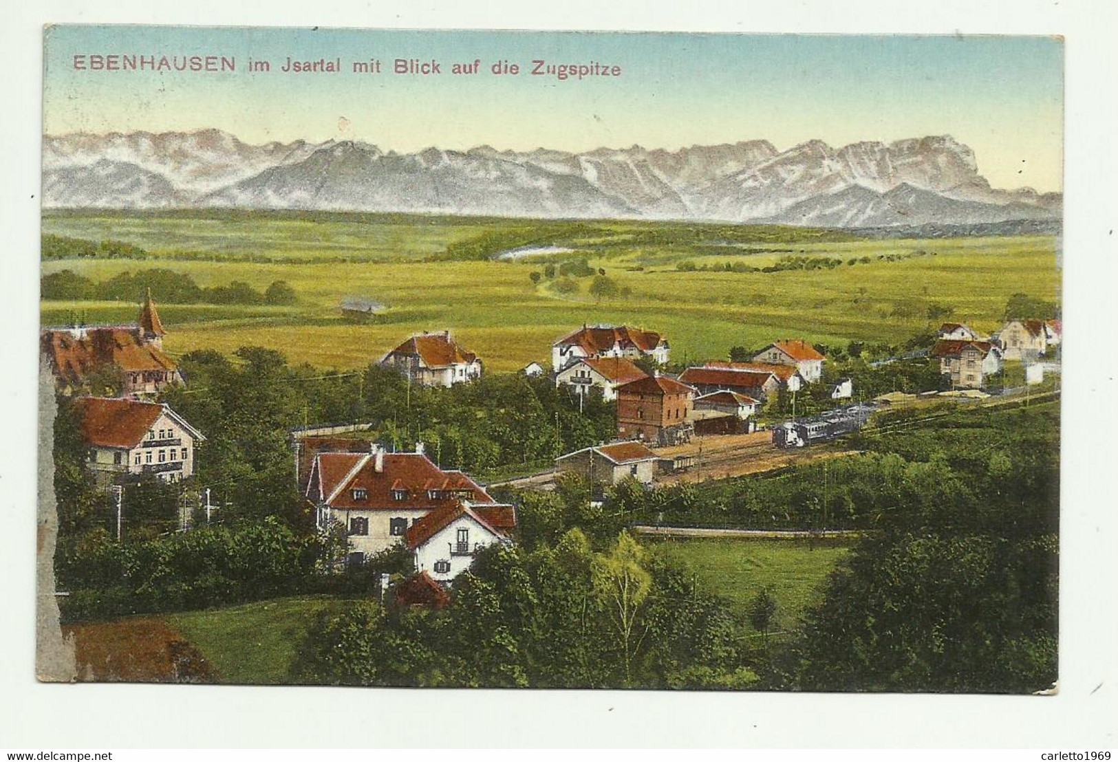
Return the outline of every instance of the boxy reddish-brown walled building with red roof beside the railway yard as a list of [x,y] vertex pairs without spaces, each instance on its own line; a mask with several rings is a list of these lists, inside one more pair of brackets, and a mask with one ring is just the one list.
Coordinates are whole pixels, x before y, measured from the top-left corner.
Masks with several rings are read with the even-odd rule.
[[695,390],[656,373],[617,388],[617,435],[652,445],[690,441]]

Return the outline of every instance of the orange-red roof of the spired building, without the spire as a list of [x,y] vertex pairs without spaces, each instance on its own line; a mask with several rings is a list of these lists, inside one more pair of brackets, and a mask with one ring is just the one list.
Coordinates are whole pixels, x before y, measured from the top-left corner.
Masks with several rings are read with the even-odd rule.
[[85,328],[79,335],[69,328],[47,328],[40,344],[55,373],[70,382],[80,381],[107,365],[116,365],[125,372],[173,371],[177,368],[161,350],[145,344],[136,328],[126,326]]

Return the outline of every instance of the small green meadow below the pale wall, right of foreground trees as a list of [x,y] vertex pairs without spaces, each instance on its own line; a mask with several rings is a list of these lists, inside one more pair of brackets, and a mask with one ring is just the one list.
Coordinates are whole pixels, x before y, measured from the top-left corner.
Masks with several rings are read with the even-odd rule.
[[822,599],[823,583],[850,551],[844,541],[702,537],[644,540],[657,553],[690,569],[700,585],[730,601],[742,615],[765,588],[777,601],[777,629],[798,626],[804,610]]

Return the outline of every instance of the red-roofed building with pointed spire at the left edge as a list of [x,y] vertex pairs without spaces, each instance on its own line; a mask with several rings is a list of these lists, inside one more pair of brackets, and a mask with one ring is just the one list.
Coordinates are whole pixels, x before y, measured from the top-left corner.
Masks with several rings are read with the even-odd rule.
[[89,377],[112,370],[120,373],[123,397],[141,398],[182,383],[178,365],[163,353],[165,335],[149,292],[135,325],[44,328],[39,346],[64,392],[79,392]]

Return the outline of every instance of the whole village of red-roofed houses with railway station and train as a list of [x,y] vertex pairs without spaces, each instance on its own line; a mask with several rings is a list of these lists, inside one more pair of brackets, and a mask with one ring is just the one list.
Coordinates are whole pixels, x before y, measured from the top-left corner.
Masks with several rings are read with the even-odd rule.
[[[130,490],[145,480],[178,486],[180,532],[201,516],[209,523],[227,507],[211,502],[211,485],[197,476],[207,449],[222,442],[162,399],[169,390],[191,391],[192,383],[164,351],[167,335],[150,292],[133,325],[51,327],[41,334],[57,390],[73,400],[80,419],[85,468],[115,507],[119,541],[131,521]],[[669,339],[655,331],[585,324],[555,341],[550,368],[531,363],[520,373],[549,380],[579,411],[586,404],[612,406],[614,437],[561,453],[549,468],[483,483],[440,467],[423,439],[407,450],[370,440],[362,432],[371,421],[309,422],[284,436],[315,530],[343,537],[323,572],[359,568],[404,549],[414,574],[378,579],[380,594],[396,584],[402,585],[398,592],[439,597],[482,549],[515,542],[518,505],[494,497],[495,487],[547,490],[561,475],[574,474],[591,485],[591,499],[600,499],[604,489],[623,483],[651,487],[724,478],[832,457],[834,448],[814,446],[855,431],[875,409],[929,396],[965,402],[1004,393],[1007,362],[1023,369],[1026,388],[1040,383],[1045,373],[1059,373],[1060,340],[1059,321],[1013,318],[992,336],[945,323],[930,347],[906,358],[925,364],[937,388],[864,398],[858,378],[835,375],[823,347],[800,339],[777,339],[746,358],[681,368],[672,364]],[[452,389],[484,372],[484,359],[449,331],[409,336],[377,364],[402,377],[408,388]],[[1002,379],[1002,389],[995,379]],[[91,394],[93,381],[117,393]]]

